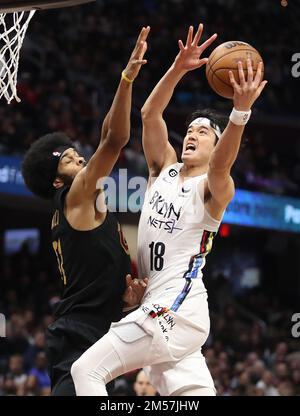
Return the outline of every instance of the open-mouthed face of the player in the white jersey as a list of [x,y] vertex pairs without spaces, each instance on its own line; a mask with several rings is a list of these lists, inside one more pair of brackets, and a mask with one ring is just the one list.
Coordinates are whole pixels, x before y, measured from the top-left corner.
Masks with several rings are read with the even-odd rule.
[[216,135],[211,127],[190,126],[183,141],[182,161],[196,166],[208,162],[215,141]]

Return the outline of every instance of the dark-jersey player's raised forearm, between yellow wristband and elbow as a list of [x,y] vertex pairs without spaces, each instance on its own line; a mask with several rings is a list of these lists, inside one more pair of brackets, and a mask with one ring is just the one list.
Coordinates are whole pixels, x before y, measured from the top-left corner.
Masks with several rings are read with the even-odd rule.
[[102,128],[104,140],[121,149],[130,137],[132,84],[122,79]]

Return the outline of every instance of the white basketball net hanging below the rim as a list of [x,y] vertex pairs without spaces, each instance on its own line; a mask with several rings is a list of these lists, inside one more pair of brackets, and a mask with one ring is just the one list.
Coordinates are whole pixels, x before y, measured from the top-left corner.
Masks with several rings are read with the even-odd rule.
[[34,13],[0,13],[0,99],[4,96],[8,104],[21,101],[17,94],[20,50]]

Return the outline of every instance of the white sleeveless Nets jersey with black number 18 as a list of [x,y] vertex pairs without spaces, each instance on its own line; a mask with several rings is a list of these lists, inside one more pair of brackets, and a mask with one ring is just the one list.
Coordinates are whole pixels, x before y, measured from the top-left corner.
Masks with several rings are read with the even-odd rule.
[[164,169],[147,189],[138,232],[139,276],[149,277],[143,302],[164,298],[171,291],[178,294],[174,312],[191,290],[206,292],[202,269],[220,225],[204,206],[207,174],[183,182],[182,166],[176,163]]

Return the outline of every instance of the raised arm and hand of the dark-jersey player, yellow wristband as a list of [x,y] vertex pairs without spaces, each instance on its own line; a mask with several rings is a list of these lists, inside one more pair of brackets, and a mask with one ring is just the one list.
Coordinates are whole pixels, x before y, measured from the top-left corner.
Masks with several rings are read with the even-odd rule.
[[132,83],[140,68],[147,61],[144,59],[147,50],[147,37],[150,27],[140,32],[129,62],[122,72],[122,79],[114,97],[109,113],[102,126],[99,147],[85,169],[84,188],[89,194],[96,192],[97,180],[108,176],[116,163],[121,149],[130,137],[130,113],[132,100]]

